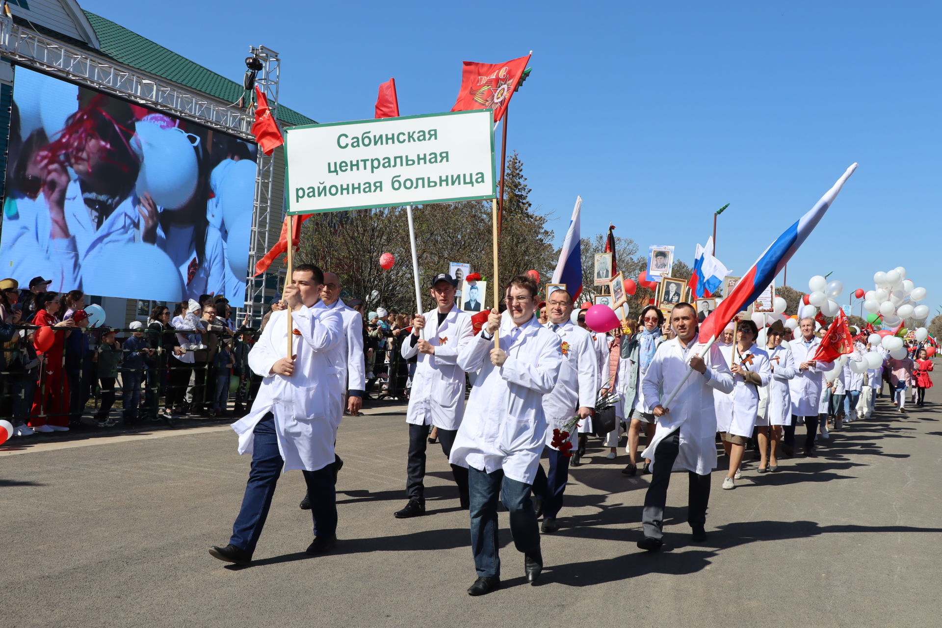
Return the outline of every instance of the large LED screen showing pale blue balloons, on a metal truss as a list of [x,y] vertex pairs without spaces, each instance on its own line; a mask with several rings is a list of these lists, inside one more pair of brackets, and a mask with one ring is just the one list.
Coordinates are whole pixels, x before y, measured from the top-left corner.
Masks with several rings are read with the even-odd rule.
[[243,304],[254,144],[23,67],[9,139],[0,279]]

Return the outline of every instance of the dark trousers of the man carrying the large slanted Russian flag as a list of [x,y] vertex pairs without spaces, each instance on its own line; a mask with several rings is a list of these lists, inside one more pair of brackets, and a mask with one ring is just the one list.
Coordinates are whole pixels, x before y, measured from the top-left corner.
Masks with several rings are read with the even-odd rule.
[[[671,469],[680,452],[680,431],[675,430],[658,443],[654,452],[654,469],[651,484],[644,495],[642,525],[644,536],[661,539],[664,536],[664,505],[667,503],[667,487],[671,483]],[[707,523],[710,476],[687,472],[690,486],[687,491],[687,523],[690,526]]]

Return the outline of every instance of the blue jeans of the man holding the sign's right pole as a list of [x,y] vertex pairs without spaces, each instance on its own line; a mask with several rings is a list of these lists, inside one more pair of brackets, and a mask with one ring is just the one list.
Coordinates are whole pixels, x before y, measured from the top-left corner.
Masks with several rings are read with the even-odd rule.
[[[471,553],[479,576],[499,576],[497,554],[497,498],[511,513],[511,534],[517,550],[528,556],[540,553],[540,528],[529,498],[530,485],[504,476],[502,469],[488,474],[468,468],[471,500]],[[502,494],[501,494],[502,493]]]

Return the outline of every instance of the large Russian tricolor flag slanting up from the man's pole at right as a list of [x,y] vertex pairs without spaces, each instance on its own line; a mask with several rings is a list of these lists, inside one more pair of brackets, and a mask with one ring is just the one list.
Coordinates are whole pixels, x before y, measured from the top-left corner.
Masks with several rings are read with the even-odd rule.
[[762,291],[769,287],[769,284],[775,279],[782,268],[788,264],[788,260],[795,254],[795,251],[802,246],[808,234],[818,225],[820,219],[824,217],[824,212],[837,197],[840,188],[847,181],[848,177],[857,169],[856,164],[852,164],[844,175],[837,180],[837,183],[821,197],[820,201],[811,209],[810,212],[799,218],[798,222],[788,227],[785,233],[771,243],[771,246],[759,256],[755,265],[749,269],[745,277],[739,280],[736,287],[729,295],[723,298],[723,302],[717,306],[712,314],[700,325],[700,342],[707,343],[711,339],[716,339],[723,332],[723,328],[733,320],[733,316],[745,310],[750,303],[755,301]]

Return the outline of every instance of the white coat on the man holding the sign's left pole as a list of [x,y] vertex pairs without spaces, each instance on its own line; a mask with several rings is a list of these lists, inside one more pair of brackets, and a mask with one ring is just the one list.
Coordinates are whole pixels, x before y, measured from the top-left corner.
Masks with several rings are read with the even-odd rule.
[[317,471],[333,463],[333,443],[343,416],[343,381],[331,362],[343,343],[343,319],[326,308],[302,306],[292,313],[296,356],[294,374],[269,375],[287,355],[287,312],[271,314],[262,337],[249,352],[249,366],[263,376],[252,411],[232,424],[238,453],[251,454],[253,430],[268,412],[274,414],[278,450],[284,471]]

